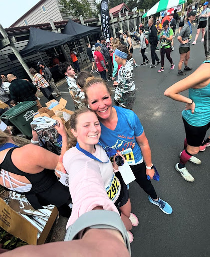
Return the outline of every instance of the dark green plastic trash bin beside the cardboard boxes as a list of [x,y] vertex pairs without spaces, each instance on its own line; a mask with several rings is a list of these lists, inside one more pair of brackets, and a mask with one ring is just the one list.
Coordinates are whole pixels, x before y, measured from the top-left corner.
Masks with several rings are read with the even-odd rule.
[[30,123],[35,112],[37,112],[37,102],[25,101],[7,110],[0,118],[9,119],[24,135],[32,137]]

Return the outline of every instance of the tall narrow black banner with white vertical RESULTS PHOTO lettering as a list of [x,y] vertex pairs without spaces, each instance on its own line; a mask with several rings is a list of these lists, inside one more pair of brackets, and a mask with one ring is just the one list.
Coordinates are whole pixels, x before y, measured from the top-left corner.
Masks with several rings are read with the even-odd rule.
[[101,1],[101,26],[102,35],[109,38],[109,6],[108,0]]

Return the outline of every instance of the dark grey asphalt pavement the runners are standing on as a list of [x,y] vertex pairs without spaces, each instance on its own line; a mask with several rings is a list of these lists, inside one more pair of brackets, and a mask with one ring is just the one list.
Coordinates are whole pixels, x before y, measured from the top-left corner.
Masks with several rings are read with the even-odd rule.
[[[193,28],[194,39],[196,29]],[[203,44],[199,36],[197,44],[191,46],[189,67],[192,72],[204,61]],[[174,39],[171,53],[175,68],[169,71],[170,64],[165,58],[165,71],[157,73],[160,64],[153,69],[148,66],[135,68],[137,98],[134,111],[144,126],[152,151],[152,162],[156,166],[160,181],[152,182],[160,198],[173,208],[171,215],[164,214],[151,204],[148,196],[136,182],[130,184],[129,195],[132,212],[139,218],[139,225],[133,227],[134,241],[131,243],[132,256],[139,257],[203,257],[210,256],[209,246],[209,153],[199,152],[200,166],[187,163],[188,171],[195,178],[186,182],[174,169],[179,161],[178,154],[183,150],[185,138],[181,111],[184,103],[175,102],[164,96],[166,88],[183,77],[177,76],[179,61],[178,41]],[[149,48],[146,55],[151,60]],[[160,58],[160,51],[157,51]],[[133,56],[138,64],[142,56],[134,49]],[[190,74],[191,72],[187,72]],[[112,82],[109,82],[112,85]],[[68,100],[67,108],[74,110],[67,85],[59,87],[62,97]],[[65,93],[67,92],[67,93]],[[185,92],[184,95],[187,95]],[[43,99],[44,100],[44,99]],[[42,100],[42,102],[43,102]]]

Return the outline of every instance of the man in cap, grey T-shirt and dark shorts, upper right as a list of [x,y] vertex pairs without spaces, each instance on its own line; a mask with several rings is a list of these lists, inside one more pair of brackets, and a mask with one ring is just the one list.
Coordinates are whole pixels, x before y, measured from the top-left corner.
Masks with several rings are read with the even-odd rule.
[[182,63],[184,62],[184,70],[191,70],[188,67],[188,60],[190,56],[190,40],[192,38],[192,22],[195,20],[196,11],[190,11],[188,13],[188,21],[184,24],[184,27],[180,31],[177,39],[180,42],[179,45],[179,54],[180,54],[180,61],[178,63],[178,75],[184,76],[186,75],[185,72],[181,71]]

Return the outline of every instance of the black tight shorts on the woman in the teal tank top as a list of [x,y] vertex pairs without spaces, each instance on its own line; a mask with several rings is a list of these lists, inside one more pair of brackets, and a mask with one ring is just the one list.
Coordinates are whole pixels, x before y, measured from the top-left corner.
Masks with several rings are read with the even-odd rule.
[[182,119],[184,122],[187,145],[192,147],[199,147],[202,144],[205,138],[205,134],[210,127],[210,122],[204,126],[192,126],[188,124],[183,117]]

